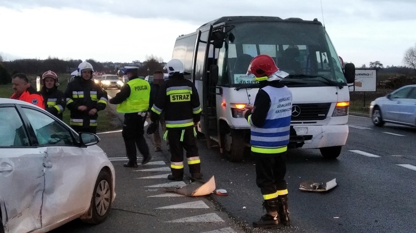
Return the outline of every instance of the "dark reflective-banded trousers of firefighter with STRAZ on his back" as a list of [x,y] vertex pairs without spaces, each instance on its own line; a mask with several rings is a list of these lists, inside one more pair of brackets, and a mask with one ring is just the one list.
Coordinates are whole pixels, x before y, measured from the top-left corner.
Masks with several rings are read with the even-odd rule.
[[[198,147],[196,146],[196,139],[193,132],[193,128],[187,128],[184,132],[184,138],[181,142],[182,130],[167,129],[167,139],[170,147],[170,161],[171,162],[183,162],[184,161],[184,149],[187,151],[187,158],[198,157]],[[184,175],[184,169],[171,168],[172,175],[175,178],[182,178]],[[189,164],[189,173],[199,173],[201,171],[201,163]]]

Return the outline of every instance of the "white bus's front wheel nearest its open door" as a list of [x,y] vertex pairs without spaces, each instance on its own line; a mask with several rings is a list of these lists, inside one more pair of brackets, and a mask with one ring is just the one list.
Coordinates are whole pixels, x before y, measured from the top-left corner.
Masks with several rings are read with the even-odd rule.
[[229,133],[224,135],[224,149],[230,162],[242,161],[244,148],[244,133],[241,130],[230,129]]

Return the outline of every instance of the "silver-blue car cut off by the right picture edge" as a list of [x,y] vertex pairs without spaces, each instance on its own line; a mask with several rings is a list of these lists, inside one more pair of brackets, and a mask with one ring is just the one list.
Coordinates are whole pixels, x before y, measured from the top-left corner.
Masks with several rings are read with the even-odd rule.
[[371,120],[376,126],[384,123],[416,126],[416,85],[401,87],[370,103]]

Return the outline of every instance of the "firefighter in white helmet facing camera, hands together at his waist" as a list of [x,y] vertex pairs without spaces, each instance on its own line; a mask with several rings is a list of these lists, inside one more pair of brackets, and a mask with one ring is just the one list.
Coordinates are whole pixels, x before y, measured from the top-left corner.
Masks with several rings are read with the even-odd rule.
[[97,112],[104,110],[108,102],[107,92],[91,80],[93,72],[90,63],[80,63],[78,75],[64,92],[66,108],[71,111],[69,125],[78,133],[97,133]]

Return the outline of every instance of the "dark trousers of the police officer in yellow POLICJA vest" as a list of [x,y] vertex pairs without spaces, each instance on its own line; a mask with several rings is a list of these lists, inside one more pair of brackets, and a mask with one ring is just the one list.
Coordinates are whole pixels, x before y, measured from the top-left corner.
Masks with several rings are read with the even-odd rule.
[[145,133],[144,120],[145,118],[137,113],[126,113],[124,115],[122,135],[128,161],[132,163],[137,163],[136,146],[144,157],[149,156],[149,148],[143,137]]

